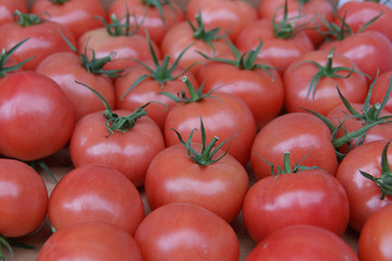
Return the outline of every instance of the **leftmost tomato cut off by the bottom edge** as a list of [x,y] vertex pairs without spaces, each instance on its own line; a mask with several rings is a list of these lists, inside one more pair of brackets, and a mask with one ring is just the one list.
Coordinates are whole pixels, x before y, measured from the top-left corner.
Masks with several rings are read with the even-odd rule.
[[37,261],[81,259],[143,261],[135,239],[105,222],[64,226],[47,239],[37,257]]

